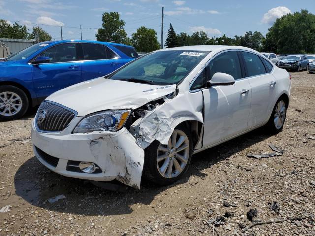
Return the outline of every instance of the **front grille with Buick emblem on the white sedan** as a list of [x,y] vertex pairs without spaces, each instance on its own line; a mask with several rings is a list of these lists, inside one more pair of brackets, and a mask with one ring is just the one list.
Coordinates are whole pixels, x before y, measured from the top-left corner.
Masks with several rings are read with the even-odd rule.
[[[44,116],[41,116],[43,114]],[[74,112],[57,104],[44,101],[38,108],[36,125],[41,131],[59,132],[68,126],[74,116]]]

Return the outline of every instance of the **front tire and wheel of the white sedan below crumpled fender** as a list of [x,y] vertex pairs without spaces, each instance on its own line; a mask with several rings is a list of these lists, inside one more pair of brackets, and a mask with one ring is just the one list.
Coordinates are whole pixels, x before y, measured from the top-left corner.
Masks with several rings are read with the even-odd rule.
[[144,177],[158,185],[169,185],[180,179],[189,168],[192,139],[186,127],[174,129],[168,144],[155,140],[145,150]]

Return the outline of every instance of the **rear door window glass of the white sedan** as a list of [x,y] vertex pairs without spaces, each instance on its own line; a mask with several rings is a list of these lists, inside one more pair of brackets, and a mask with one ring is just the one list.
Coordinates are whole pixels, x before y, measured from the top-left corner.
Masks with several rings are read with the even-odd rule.
[[248,52],[242,52],[242,54],[244,56],[248,76],[255,76],[266,73],[265,66],[258,55]]

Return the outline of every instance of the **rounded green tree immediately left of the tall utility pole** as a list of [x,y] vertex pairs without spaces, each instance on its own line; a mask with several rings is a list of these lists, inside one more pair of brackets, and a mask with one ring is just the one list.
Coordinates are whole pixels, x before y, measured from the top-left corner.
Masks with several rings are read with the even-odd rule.
[[144,26],[141,26],[132,34],[132,42],[138,52],[152,52],[160,49],[157,32]]

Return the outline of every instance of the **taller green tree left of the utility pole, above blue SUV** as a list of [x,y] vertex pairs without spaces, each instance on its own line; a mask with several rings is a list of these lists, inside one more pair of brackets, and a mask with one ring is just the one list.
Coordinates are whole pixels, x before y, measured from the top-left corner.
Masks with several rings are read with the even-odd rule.
[[97,41],[123,43],[127,39],[124,26],[125,21],[120,20],[118,12],[105,12],[102,17],[102,28],[97,31]]

